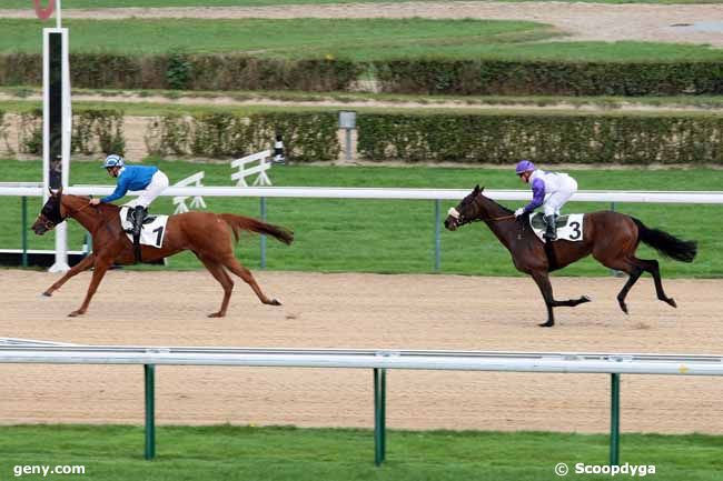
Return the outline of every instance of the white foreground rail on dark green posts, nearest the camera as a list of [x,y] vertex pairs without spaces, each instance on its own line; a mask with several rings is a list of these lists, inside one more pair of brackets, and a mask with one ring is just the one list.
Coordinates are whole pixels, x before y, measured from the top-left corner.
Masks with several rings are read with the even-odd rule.
[[156,365],[372,369],[375,463],[386,457],[388,369],[611,374],[610,463],[620,462],[621,374],[723,375],[723,357],[689,354],[0,344],[0,363],[142,364],[146,459],[156,453]]

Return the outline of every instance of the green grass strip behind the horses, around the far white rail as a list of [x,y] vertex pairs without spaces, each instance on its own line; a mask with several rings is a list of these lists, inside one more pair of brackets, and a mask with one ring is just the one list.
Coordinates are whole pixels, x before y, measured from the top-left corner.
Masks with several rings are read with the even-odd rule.
[[[205,184],[229,186],[231,169],[225,164],[156,162],[171,182],[199,170],[206,172]],[[40,181],[39,161],[0,161],[2,181]],[[573,172],[581,189],[616,190],[720,190],[721,170],[580,170]],[[275,167],[270,177],[275,186],[329,187],[408,187],[472,189],[481,183],[489,189],[522,189],[509,169],[465,168],[374,168],[374,167]],[[76,162],[70,183],[112,184],[98,163]],[[258,199],[206,199],[209,210],[259,216]],[[29,222],[40,209],[39,199],[29,199]],[[443,217],[456,202],[443,202]],[[519,202],[522,204],[522,202]],[[508,203],[517,207],[516,202]],[[607,204],[571,203],[567,212],[591,212],[608,209]],[[695,262],[684,264],[662,260],[664,277],[722,277],[723,226],[721,208],[685,204],[624,204],[617,210],[641,219],[650,227],[662,228],[682,238],[700,241]],[[0,245],[21,244],[21,203],[18,198],[0,198],[0,211],[8,220],[0,232]],[[171,213],[170,198],[153,203],[156,213]],[[433,270],[434,202],[341,199],[269,199],[268,220],[296,231],[294,245],[268,242],[268,268],[276,270],[313,270],[324,272],[430,272]],[[82,244],[82,230],[70,222],[70,248]],[[48,249],[52,238],[30,234],[30,248]],[[643,258],[660,258],[645,247]],[[237,255],[249,267],[259,264],[259,241],[248,234],[237,247]],[[178,269],[197,269],[198,261],[189,253],[170,259]],[[152,269],[152,268],[149,268]],[[483,224],[465,227],[457,232],[442,232],[442,270],[447,273],[516,275],[508,252]],[[592,259],[585,259],[561,271],[563,275],[608,275]]]

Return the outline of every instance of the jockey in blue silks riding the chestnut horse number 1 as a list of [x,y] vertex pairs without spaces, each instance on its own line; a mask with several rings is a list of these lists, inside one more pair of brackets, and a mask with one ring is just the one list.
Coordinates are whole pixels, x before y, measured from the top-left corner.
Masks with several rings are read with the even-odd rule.
[[148,206],[168,187],[168,177],[157,167],[126,166],[123,158],[115,153],[106,158],[102,167],[110,177],[118,179],[118,183],[110,196],[102,199],[90,199],[90,203],[98,206],[99,203],[112,202],[126,196],[129,190],[141,191],[138,198],[126,204],[133,209],[133,241],[137,243]]

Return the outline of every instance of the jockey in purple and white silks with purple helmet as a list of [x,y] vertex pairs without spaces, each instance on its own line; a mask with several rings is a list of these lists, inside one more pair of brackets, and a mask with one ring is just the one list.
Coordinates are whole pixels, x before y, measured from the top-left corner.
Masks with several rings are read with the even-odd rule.
[[[557,239],[555,220],[559,216],[559,209],[577,192],[577,182],[566,173],[535,169],[535,164],[529,160],[519,161],[515,172],[523,182],[532,186],[533,191],[532,202],[517,209],[515,217],[531,213],[544,204],[545,223],[547,224],[544,238],[551,241]],[[545,196],[548,196],[547,200],[545,200]]]

